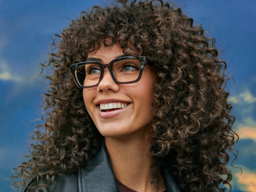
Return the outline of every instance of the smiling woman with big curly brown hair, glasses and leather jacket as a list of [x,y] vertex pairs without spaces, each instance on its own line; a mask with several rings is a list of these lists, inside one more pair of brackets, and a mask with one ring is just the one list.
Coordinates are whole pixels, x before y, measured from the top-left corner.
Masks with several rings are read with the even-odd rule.
[[161,0],[122,3],[82,12],[53,43],[49,113],[14,185],[231,190],[228,151],[238,135],[214,39]]

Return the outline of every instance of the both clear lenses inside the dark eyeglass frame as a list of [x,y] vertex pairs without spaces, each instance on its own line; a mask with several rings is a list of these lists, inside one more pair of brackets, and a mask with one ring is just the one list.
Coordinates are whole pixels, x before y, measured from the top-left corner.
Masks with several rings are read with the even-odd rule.
[[[115,62],[112,68],[117,81],[129,82],[139,77],[141,63],[137,59],[120,60]],[[101,69],[100,64],[91,64],[91,62],[77,67],[76,77],[79,84],[82,86],[96,85],[100,80],[100,74],[104,73]]]

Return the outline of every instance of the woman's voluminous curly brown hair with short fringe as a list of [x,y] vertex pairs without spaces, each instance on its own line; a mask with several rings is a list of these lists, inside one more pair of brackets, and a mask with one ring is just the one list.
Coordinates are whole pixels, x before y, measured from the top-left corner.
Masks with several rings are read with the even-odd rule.
[[166,164],[182,191],[225,191],[225,186],[231,191],[228,152],[234,154],[238,135],[232,130],[234,117],[225,91],[226,63],[218,59],[214,38],[169,3],[119,2],[124,6],[81,12],[55,35],[59,41],[54,39],[49,62],[42,65],[54,68],[47,76],[51,90],[44,99],[44,111],[50,112],[33,132],[37,142],[31,144],[28,162],[14,169],[13,178],[23,178],[14,185],[25,186],[32,175],[46,178],[49,185],[56,175],[85,166],[98,152],[103,136],[88,115],[70,66],[83,62],[103,42],[118,44],[128,53],[135,50],[154,63],[158,81],[150,153],[155,181],[161,164]]

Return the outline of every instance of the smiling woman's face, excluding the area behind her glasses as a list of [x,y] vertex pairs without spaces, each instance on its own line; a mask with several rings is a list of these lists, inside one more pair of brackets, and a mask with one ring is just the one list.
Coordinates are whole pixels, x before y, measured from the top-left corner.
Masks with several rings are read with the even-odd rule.
[[[123,49],[118,45],[111,48],[102,46],[96,52],[91,52],[88,58],[100,59],[106,64],[120,55],[123,55]],[[115,84],[108,68],[105,68],[98,87],[83,89],[86,109],[101,135],[120,137],[145,132],[154,117],[151,109],[154,83],[156,74],[148,65],[138,83],[124,85]],[[101,111],[100,105],[106,104],[123,105],[124,108]]]

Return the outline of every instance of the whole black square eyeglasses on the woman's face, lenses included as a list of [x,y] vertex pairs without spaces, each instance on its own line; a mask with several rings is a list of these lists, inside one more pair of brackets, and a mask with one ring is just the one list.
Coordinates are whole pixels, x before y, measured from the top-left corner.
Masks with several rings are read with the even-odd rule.
[[88,61],[73,64],[70,70],[76,85],[81,88],[97,87],[103,78],[105,68],[108,68],[116,84],[130,84],[140,81],[146,63],[146,57],[140,60],[133,56],[113,59],[108,64],[99,61]]

